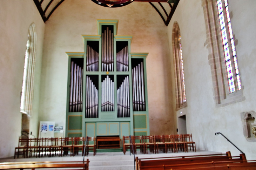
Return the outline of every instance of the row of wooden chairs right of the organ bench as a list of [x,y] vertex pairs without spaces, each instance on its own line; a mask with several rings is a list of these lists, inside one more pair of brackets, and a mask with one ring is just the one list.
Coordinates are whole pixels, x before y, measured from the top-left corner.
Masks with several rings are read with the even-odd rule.
[[196,144],[193,142],[192,134],[180,135],[150,135],[150,136],[123,136],[123,153],[125,154],[128,149],[134,154],[137,154],[137,149],[143,154],[159,153],[162,151],[188,152],[188,148],[196,151]]

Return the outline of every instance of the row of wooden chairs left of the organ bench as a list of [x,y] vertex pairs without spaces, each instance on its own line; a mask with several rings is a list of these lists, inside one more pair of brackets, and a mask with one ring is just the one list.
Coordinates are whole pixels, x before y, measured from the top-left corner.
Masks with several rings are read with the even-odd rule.
[[[87,142],[86,142],[87,141]],[[22,155],[23,158],[42,157],[42,156],[65,156],[70,152],[70,156],[78,155],[82,151],[86,155],[89,150],[96,154],[95,137],[61,137],[61,138],[20,138],[18,147],[14,150],[14,159]]]

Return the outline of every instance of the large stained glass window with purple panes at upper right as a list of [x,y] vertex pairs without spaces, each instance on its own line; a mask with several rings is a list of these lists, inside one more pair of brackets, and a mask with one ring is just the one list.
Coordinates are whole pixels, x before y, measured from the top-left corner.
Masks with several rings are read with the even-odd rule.
[[[218,15],[219,15],[219,21],[220,21],[220,27],[221,27],[222,42],[223,42],[223,48],[224,48],[224,54],[225,54],[225,63],[226,63],[226,68],[227,68],[229,92],[233,93],[236,91],[234,79],[236,79],[237,90],[241,90],[242,88],[241,88],[240,75],[239,75],[239,70],[238,70],[238,65],[237,65],[235,43],[234,43],[233,32],[232,32],[232,28],[231,28],[229,10],[228,10],[228,1],[224,0],[224,7],[223,7],[222,0],[217,0],[217,7],[218,7]],[[225,16],[224,16],[223,8],[224,8],[227,18],[225,18]],[[226,23],[227,23],[227,25],[226,25]],[[230,44],[228,42],[226,26],[229,31]],[[232,49],[232,54],[230,54],[229,48]],[[231,61],[230,55],[233,55],[233,61]],[[232,63],[232,62],[234,62],[234,63]],[[232,71],[232,69],[233,69],[232,67],[235,67],[235,78],[234,78],[234,74]]]

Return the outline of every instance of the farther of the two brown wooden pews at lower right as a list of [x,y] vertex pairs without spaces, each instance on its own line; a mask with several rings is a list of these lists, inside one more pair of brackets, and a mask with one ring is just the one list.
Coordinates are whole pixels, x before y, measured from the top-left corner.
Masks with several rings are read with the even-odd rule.
[[[183,156],[183,157],[161,157],[161,158],[141,158],[136,157],[136,169],[160,168],[163,165],[187,164],[187,163],[202,163],[202,162],[219,162],[219,161],[246,161],[244,154],[240,156],[231,157],[231,153],[213,154],[213,155],[197,155],[197,156]],[[151,169],[150,168],[150,169]]]

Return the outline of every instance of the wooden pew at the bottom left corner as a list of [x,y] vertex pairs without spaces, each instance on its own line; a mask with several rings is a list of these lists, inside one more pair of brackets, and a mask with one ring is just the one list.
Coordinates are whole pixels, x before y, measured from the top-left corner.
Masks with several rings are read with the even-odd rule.
[[63,168],[74,168],[74,169],[83,169],[88,170],[89,159],[86,162],[7,162],[0,163],[0,169],[9,170],[9,169],[63,169]]

